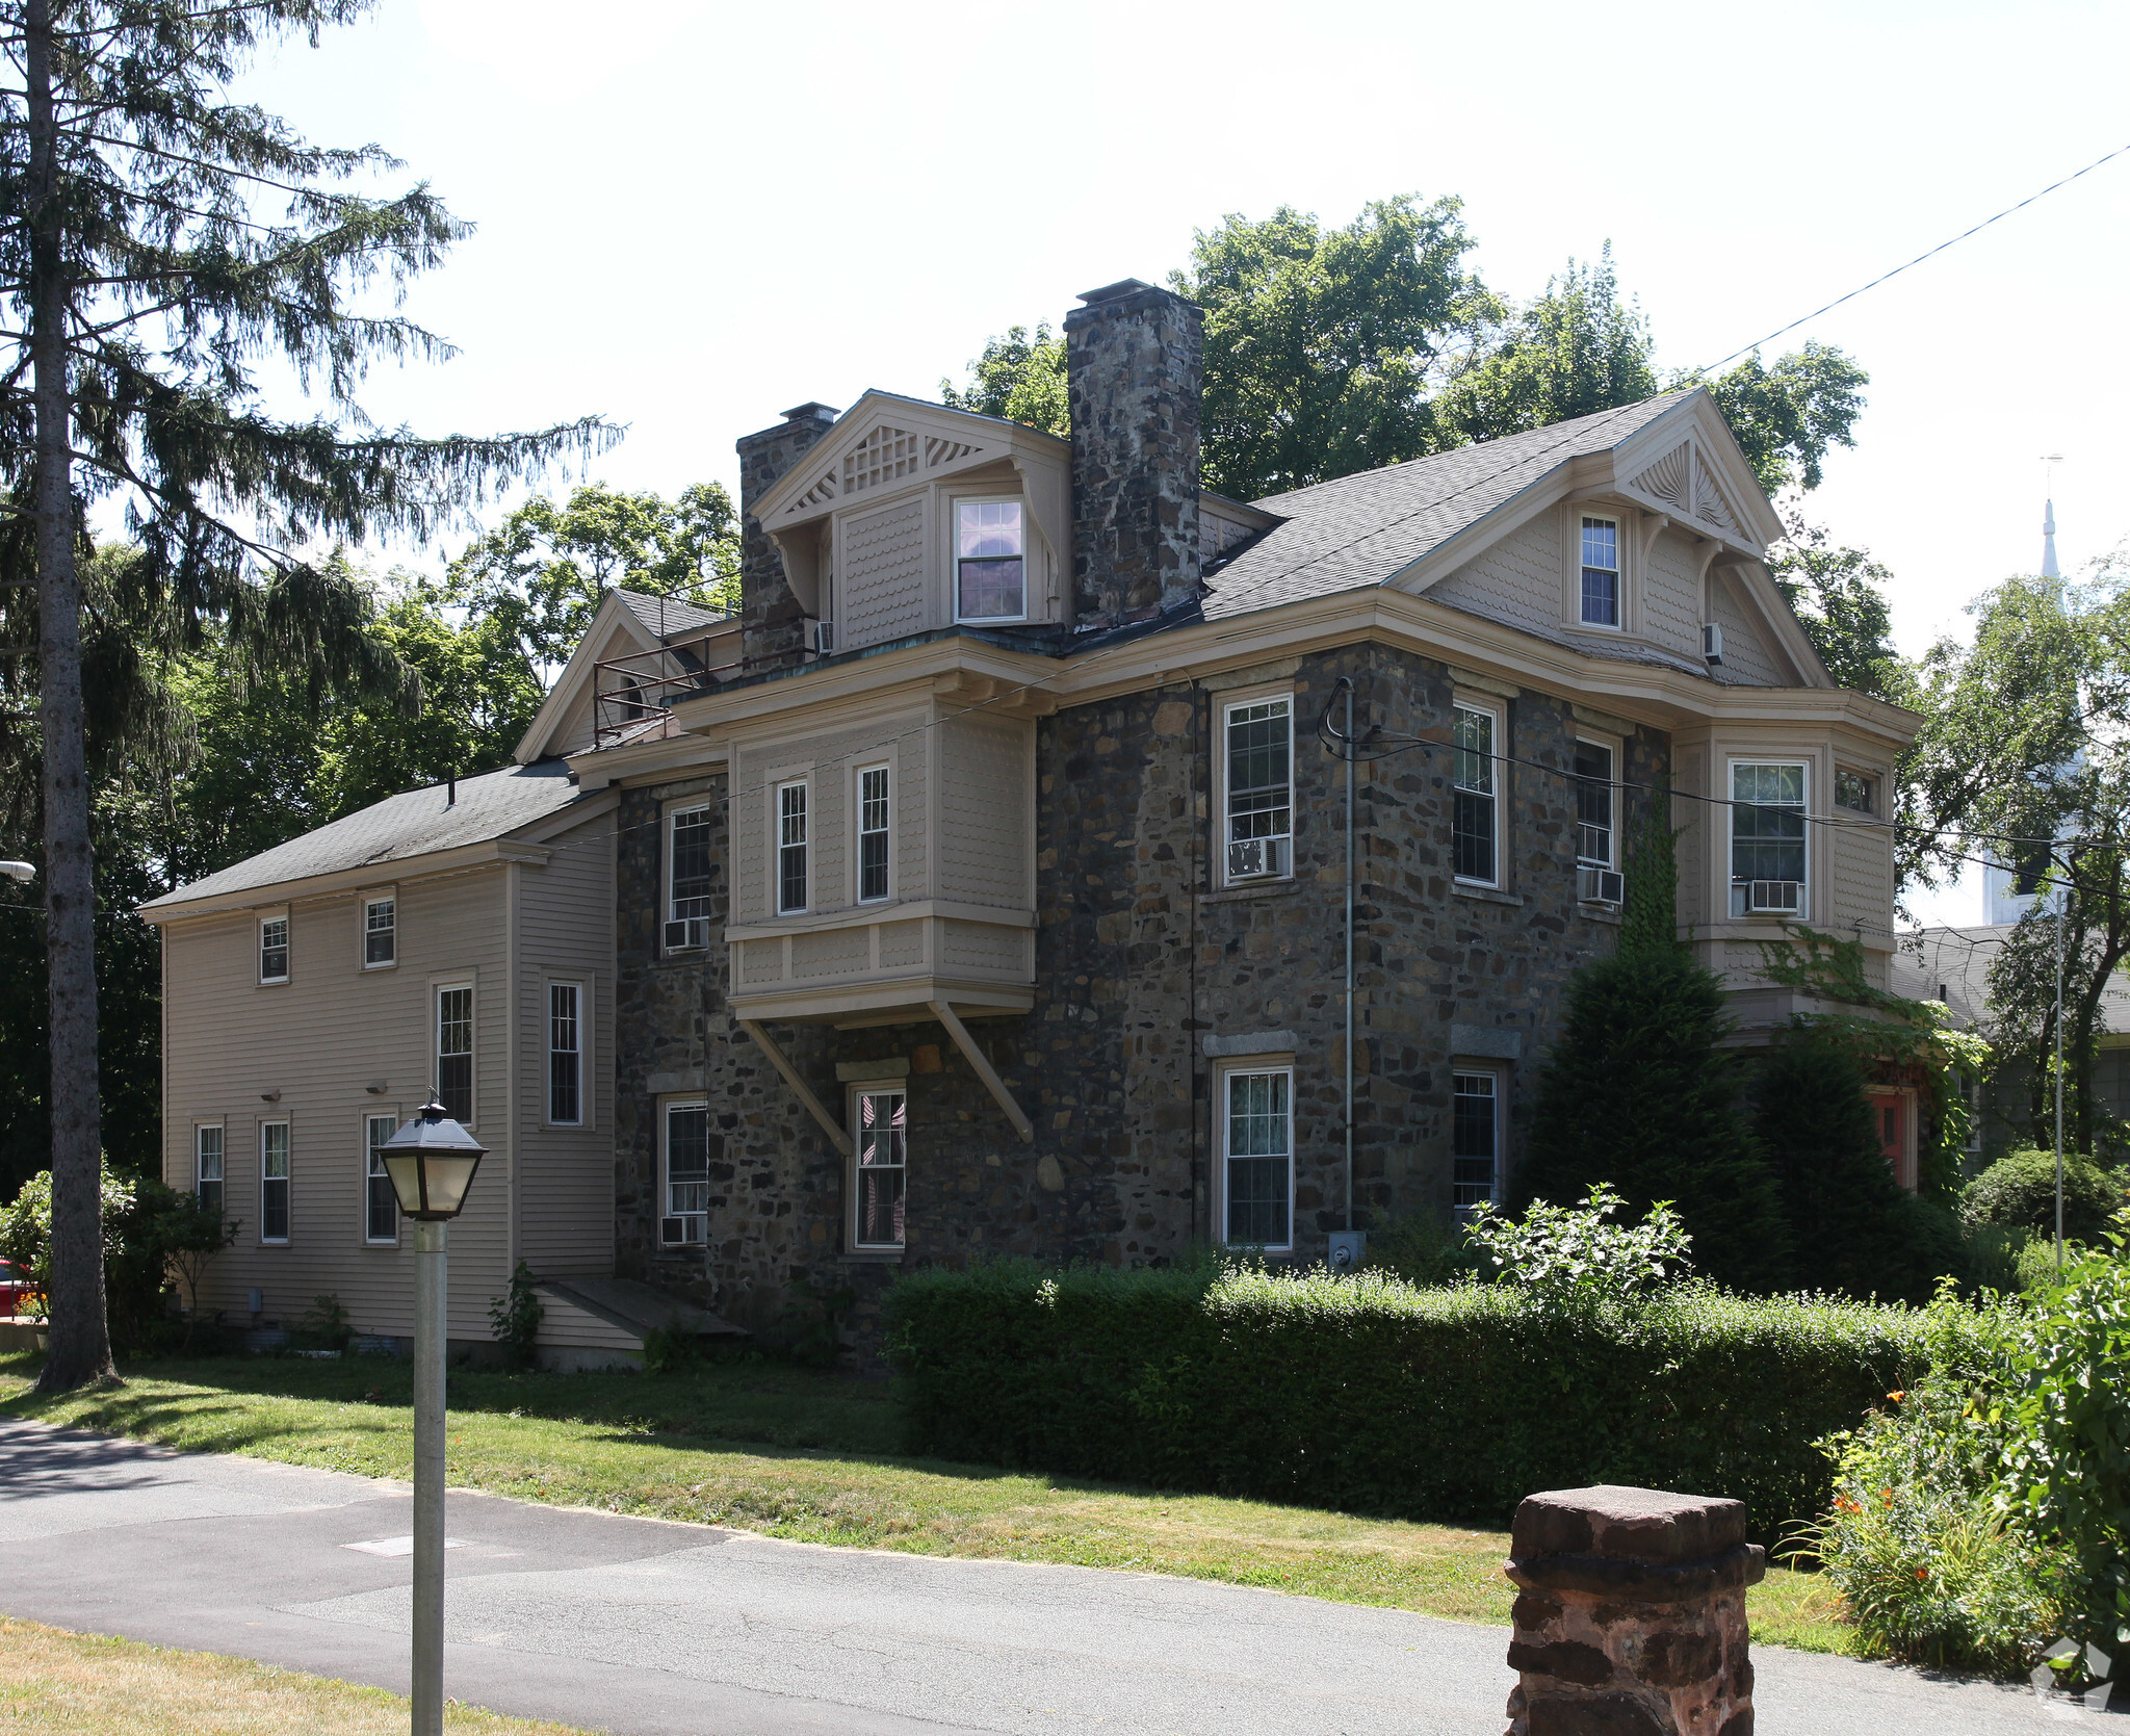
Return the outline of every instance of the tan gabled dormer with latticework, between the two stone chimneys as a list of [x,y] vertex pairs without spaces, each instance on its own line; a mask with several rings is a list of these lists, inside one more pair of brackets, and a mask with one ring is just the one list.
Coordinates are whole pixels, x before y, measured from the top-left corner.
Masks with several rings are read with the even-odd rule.
[[867,392],[754,505],[835,652],[1071,620],[1071,445]]

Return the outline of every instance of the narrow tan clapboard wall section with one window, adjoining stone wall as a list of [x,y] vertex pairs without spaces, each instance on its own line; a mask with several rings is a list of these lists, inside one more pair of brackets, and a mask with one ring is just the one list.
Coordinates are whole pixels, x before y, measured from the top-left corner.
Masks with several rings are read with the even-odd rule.
[[[518,1252],[541,1278],[613,1272],[613,824],[586,820],[518,869]],[[581,984],[581,1127],[547,1123],[550,982]]]

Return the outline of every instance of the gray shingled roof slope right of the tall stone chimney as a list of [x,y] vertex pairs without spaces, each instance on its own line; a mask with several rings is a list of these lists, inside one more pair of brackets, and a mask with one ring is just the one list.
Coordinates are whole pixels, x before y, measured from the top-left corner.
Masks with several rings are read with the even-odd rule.
[[1206,618],[1382,584],[1572,458],[1610,452],[1693,390],[1255,501],[1287,524],[1206,579]]

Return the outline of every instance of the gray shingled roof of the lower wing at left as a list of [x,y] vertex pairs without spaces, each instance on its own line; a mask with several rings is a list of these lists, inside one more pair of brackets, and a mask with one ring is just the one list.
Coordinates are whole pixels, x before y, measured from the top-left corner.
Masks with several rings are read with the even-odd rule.
[[292,837],[288,844],[247,856],[234,867],[164,892],[141,907],[166,910],[168,905],[245,892],[253,886],[279,886],[356,867],[388,867],[413,856],[430,856],[437,850],[488,844],[543,820],[577,799],[579,790],[569,780],[567,760],[509,765],[479,777],[460,777],[458,801],[449,805],[445,805],[445,786],[430,784],[426,790],[386,797],[360,814]]

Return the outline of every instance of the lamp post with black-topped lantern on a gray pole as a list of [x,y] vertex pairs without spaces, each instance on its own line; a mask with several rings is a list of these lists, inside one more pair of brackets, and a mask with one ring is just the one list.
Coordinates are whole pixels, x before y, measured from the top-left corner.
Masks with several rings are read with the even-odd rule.
[[413,1218],[413,1736],[443,1736],[445,1246],[486,1154],[430,1099],[381,1152]]

